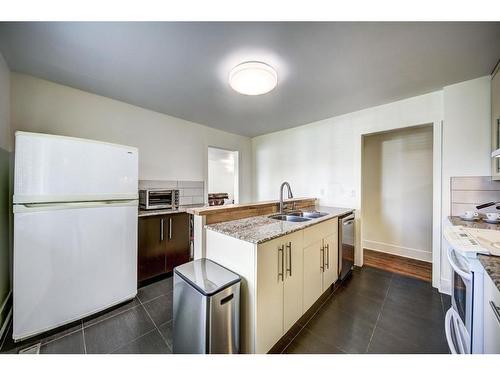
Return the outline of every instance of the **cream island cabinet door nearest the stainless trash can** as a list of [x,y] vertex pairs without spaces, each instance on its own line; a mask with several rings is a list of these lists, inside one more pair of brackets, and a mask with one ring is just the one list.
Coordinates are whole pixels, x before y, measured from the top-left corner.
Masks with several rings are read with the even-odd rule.
[[284,252],[282,238],[257,248],[256,353],[267,353],[283,335]]

